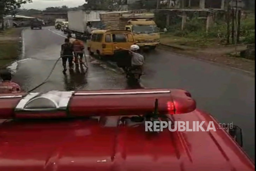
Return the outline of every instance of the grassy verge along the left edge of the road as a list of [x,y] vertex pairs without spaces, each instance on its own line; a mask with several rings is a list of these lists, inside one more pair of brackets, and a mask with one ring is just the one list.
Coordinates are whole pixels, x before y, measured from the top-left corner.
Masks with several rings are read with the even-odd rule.
[[19,56],[21,29],[11,28],[0,33],[0,68],[4,68]]

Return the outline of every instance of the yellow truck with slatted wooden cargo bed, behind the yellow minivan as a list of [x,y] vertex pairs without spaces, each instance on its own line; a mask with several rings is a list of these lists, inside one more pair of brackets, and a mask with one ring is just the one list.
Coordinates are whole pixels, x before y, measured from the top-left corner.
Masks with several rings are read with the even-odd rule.
[[100,14],[105,30],[130,30],[136,44],[155,49],[160,44],[159,29],[154,22],[154,14],[134,11],[114,11]]

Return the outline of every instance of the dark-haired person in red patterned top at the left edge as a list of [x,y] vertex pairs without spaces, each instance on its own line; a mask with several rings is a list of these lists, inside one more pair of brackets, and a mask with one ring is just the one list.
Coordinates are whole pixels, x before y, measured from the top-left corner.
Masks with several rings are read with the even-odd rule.
[[8,70],[3,70],[0,73],[2,82],[0,82],[0,93],[20,93],[21,88],[18,84],[11,81],[12,74]]

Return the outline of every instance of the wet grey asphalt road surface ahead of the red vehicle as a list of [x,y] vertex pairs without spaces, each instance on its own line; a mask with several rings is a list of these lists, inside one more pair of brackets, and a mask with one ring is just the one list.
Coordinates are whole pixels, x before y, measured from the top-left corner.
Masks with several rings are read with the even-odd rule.
[[[50,30],[52,31],[50,31]],[[53,27],[23,32],[25,55],[18,62],[14,81],[24,90],[39,85],[48,76],[64,42],[61,31]],[[180,88],[192,93],[198,107],[211,113],[220,123],[233,123],[243,130],[244,149],[255,160],[255,78],[240,71],[212,63],[156,50],[146,54],[147,88]],[[62,74],[61,61],[49,81],[35,91],[78,89],[130,89],[124,75],[115,67],[90,59],[89,71]]]

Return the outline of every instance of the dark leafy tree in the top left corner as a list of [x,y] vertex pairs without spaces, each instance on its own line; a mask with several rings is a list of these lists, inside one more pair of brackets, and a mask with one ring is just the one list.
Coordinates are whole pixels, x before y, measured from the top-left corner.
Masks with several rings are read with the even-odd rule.
[[0,0],[0,22],[2,23],[2,29],[4,29],[3,16],[14,15],[22,4],[32,2],[32,0]]

